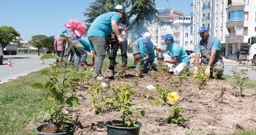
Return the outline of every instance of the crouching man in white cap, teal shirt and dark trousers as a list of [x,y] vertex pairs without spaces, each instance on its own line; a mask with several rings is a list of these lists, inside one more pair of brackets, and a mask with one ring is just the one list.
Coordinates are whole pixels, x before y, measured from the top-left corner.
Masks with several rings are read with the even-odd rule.
[[[156,64],[154,64],[155,60],[155,53],[153,51],[153,43],[150,41],[151,34],[149,32],[145,32],[143,37],[140,37],[136,43],[140,48],[140,55],[142,56],[144,62],[144,68],[142,69],[142,73],[148,73],[149,68],[148,66],[152,66],[154,71],[157,71]],[[136,70],[140,68],[140,63],[138,62],[136,66]]]

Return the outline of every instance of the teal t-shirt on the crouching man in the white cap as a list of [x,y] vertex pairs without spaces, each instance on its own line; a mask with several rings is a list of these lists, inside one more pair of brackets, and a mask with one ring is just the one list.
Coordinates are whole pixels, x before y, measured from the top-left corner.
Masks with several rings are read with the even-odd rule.
[[147,56],[147,53],[152,52],[152,55],[149,58],[149,61],[154,61],[155,60],[155,53],[153,51],[153,43],[151,41],[149,41],[147,44],[145,44],[144,46],[144,42],[142,41],[143,37],[140,37],[139,39],[137,39],[137,44],[140,48],[140,55],[142,56],[142,58]]

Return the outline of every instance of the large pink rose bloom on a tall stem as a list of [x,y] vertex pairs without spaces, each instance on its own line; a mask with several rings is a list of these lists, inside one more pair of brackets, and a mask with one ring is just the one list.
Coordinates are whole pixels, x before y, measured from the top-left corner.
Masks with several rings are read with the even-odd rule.
[[85,30],[87,27],[83,22],[79,22],[76,19],[70,19],[70,22],[65,24],[65,27],[73,30],[78,37],[82,37],[83,34],[86,34]]

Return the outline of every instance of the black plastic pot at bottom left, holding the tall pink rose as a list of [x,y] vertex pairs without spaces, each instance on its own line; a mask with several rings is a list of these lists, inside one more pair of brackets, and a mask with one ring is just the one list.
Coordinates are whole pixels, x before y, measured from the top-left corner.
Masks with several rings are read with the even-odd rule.
[[73,123],[64,123],[64,127],[68,128],[68,131],[62,133],[42,133],[41,130],[43,127],[55,127],[55,122],[52,123],[44,123],[38,127],[36,127],[37,135],[74,135],[74,131],[76,129],[76,125]]

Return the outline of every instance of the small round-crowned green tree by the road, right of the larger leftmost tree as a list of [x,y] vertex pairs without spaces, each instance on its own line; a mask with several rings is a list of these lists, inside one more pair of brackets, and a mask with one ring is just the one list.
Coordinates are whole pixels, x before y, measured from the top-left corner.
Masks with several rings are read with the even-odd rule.
[[36,47],[38,49],[38,56],[40,55],[39,49],[42,49],[45,46],[50,44],[50,37],[46,35],[33,35],[31,40],[28,41],[29,44]]

